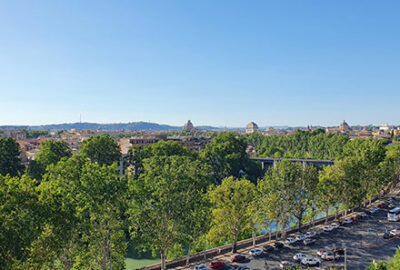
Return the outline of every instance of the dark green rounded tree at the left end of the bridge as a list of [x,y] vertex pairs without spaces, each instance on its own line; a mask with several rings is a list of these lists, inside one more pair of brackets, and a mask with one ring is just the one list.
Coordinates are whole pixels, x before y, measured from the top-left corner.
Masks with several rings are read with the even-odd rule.
[[[246,153],[247,143],[234,133],[221,132],[201,151],[200,157],[212,167],[216,184],[229,176],[241,177],[247,174],[256,181],[261,176],[261,166],[251,161]],[[256,166],[256,168],[254,167]]]

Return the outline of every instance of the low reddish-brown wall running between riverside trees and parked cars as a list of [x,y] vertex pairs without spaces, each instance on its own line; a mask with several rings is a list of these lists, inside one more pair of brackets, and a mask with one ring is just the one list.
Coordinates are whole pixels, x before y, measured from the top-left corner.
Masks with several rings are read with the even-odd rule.
[[[387,194],[388,192],[389,192],[389,190],[385,190],[383,192],[383,194]],[[378,199],[379,199],[379,197],[374,197],[371,200],[371,202],[375,202]],[[352,213],[352,212],[354,212],[355,210],[357,210],[359,208],[360,207],[358,207],[358,206],[357,207],[353,207],[352,209],[349,209],[347,214]],[[332,220],[336,219],[336,217],[340,218],[340,217],[344,216],[344,214],[345,214],[345,211],[343,210],[343,211],[339,212],[337,215],[333,214],[333,215],[328,216],[328,218],[326,218],[326,217],[319,218],[319,219],[314,220],[312,222],[308,222],[308,223],[303,224],[303,228],[305,228],[305,227],[312,228],[312,227],[324,224],[326,219],[329,222],[329,221],[332,221]],[[291,234],[291,233],[294,233],[294,232],[297,232],[297,231],[298,231],[297,228],[289,228],[289,229],[286,230],[286,234]],[[277,232],[274,232],[274,233],[271,234],[271,238],[270,238],[269,235],[258,236],[258,237],[256,237],[256,241],[255,241],[256,245],[269,242],[270,240],[279,240],[278,237],[281,236],[281,234],[282,234],[282,232],[277,231]],[[237,249],[238,250],[239,249],[248,248],[248,247],[251,247],[251,246],[253,246],[253,238],[242,240],[242,241],[238,241],[238,243],[237,243]],[[196,253],[196,254],[191,255],[190,259],[189,259],[189,264],[202,262],[205,259],[213,258],[213,257],[218,256],[218,255],[227,254],[227,253],[229,253],[231,251],[232,251],[232,244],[225,245],[225,246],[220,246],[220,247],[216,247],[216,248],[212,248],[212,249],[208,249],[205,252],[200,252],[200,253]],[[175,260],[167,261],[166,267],[167,268],[184,267],[184,266],[186,266],[186,259],[187,259],[186,257],[181,257],[181,258],[178,258],[178,259],[175,259]],[[138,268],[138,269],[139,270],[160,270],[161,269],[161,264],[158,263],[158,264],[154,264],[154,265],[150,265],[150,266],[146,266],[146,267]]]

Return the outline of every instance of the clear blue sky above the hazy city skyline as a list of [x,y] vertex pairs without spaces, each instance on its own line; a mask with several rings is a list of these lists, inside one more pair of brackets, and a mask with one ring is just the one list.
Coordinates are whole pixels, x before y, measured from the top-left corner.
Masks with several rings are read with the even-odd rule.
[[0,0],[0,125],[400,124],[400,1]]

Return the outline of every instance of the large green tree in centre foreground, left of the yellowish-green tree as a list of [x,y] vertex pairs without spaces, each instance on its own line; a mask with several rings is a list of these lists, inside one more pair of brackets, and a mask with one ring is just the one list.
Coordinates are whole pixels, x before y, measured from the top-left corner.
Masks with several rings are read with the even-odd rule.
[[[152,156],[143,160],[143,173],[129,179],[128,216],[131,236],[140,250],[159,253],[161,268],[185,232],[188,217],[209,184],[208,170],[187,156]],[[201,213],[197,213],[200,216]]]

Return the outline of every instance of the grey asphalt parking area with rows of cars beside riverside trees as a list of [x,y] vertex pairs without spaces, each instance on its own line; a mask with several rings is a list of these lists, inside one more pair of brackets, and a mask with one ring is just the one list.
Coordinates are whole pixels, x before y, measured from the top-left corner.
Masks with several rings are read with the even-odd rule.
[[[394,204],[400,205],[400,196],[395,196]],[[336,246],[346,247],[347,269],[364,270],[372,260],[387,260],[392,257],[396,248],[400,245],[400,240],[396,238],[383,239],[386,230],[398,228],[399,222],[387,221],[387,208],[380,209],[372,215],[363,217],[358,222],[340,226],[331,232],[323,232],[316,236],[314,245],[304,246],[303,243],[287,245],[280,249],[264,252],[262,256],[252,257],[249,250],[240,250],[240,254],[248,259],[240,263],[230,263],[229,255],[221,256],[218,259],[225,261],[225,269],[234,269],[237,266],[246,266],[251,269],[280,269],[281,261],[293,261],[296,253],[304,253],[309,256],[318,257],[317,251],[335,244]],[[315,228],[312,230],[316,230]],[[292,235],[291,235],[292,236]],[[269,243],[272,244],[272,243]],[[258,246],[258,248],[262,248]],[[300,264],[297,264],[300,266]],[[313,269],[329,269],[336,266],[338,269],[344,267],[344,256],[341,255],[337,261],[321,260],[319,267]]]

